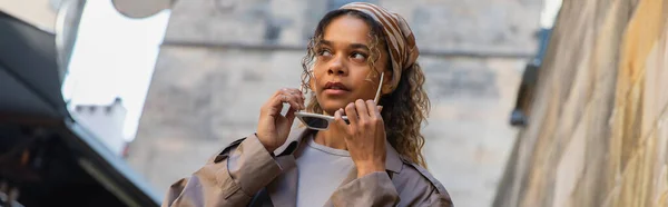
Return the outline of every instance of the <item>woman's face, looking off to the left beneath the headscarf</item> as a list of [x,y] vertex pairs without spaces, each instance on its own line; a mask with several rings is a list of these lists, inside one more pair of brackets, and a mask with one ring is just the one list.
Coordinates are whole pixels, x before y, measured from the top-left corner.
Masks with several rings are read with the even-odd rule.
[[[371,56],[370,31],[371,28],[364,20],[345,14],[333,19],[325,27],[323,40],[316,47],[317,57],[313,66],[315,79],[311,80],[311,88],[326,114],[333,115],[357,99],[375,98],[380,76],[373,76],[367,62]],[[380,58],[374,67],[379,75],[384,71],[384,79],[390,80],[390,72],[385,71],[386,49],[382,47],[379,50]]]

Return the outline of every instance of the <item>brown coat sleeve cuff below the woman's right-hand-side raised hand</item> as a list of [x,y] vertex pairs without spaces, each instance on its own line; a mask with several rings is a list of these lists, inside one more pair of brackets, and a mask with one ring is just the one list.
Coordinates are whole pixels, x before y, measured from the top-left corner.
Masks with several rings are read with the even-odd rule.
[[399,194],[387,172],[372,172],[338,187],[332,195],[334,206],[396,206]]

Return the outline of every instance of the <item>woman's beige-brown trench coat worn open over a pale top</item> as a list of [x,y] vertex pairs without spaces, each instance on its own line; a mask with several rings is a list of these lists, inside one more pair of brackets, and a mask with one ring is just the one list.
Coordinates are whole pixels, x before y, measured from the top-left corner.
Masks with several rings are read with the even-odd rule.
[[[273,154],[255,135],[239,139],[190,178],[173,184],[163,206],[295,206],[298,171],[293,152],[310,132],[293,129]],[[386,146],[386,172],[356,178],[353,169],[324,206],[453,206],[445,188],[424,168]]]

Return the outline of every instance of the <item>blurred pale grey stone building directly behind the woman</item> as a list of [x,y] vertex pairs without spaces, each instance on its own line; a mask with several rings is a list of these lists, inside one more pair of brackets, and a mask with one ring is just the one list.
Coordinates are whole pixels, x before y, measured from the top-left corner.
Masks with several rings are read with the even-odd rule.
[[[350,1],[171,2],[128,158],[160,191],[255,131],[267,97],[298,86],[317,21]],[[458,206],[490,206],[517,135],[508,115],[538,48],[541,0],[370,2],[415,32],[433,106],[423,129],[430,170]]]

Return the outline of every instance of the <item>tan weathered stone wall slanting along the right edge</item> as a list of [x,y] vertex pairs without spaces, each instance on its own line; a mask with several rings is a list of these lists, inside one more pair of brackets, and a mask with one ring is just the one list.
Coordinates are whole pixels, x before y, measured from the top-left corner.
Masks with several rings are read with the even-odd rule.
[[564,0],[495,207],[668,206],[668,1]]

